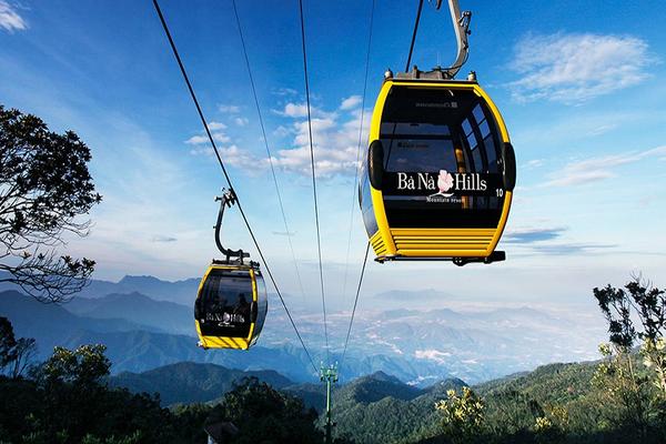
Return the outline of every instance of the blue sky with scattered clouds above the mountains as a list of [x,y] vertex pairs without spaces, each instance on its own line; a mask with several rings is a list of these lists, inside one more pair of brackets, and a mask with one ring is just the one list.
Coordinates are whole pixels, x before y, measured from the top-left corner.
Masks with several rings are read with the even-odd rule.
[[[297,2],[239,1],[239,13],[305,295],[231,1],[161,3],[279,284],[294,304],[319,301]],[[346,304],[365,245],[352,184],[372,2],[304,3],[325,281],[332,303]],[[404,68],[416,2],[376,3],[365,123],[384,70]],[[508,260],[372,263],[366,292],[436,289],[470,301],[589,306],[593,286],[622,284],[632,272],[666,284],[666,4],[461,7],[473,10],[461,74],[477,72],[516,149],[502,243]],[[426,4],[414,63],[446,64],[454,52],[448,12]],[[74,130],[92,149],[104,201],[91,235],[69,246],[98,261],[98,279],[190,278],[215,256],[213,196],[224,183],[150,1],[0,0],[0,102]],[[224,230],[231,246],[250,245],[238,215]]]

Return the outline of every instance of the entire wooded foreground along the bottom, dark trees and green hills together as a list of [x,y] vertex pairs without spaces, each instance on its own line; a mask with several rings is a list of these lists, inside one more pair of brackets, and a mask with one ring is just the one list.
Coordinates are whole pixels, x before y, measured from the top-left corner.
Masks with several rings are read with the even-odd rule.
[[[634,361],[638,369],[639,362]],[[617,403],[613,398],[616,394],[601,381],[599,371],[605,365],[607,361],[551,364],[472,387],[460,380],[447,380],[417,389],[375,373],[335,387],[334,436],[341,443],[634,443],[637,436],[643,443],[662,443],[665,430],[659,425],[662,420],[654,416],[659,413],[658,406],[650,407],[645,428],[637,428],[640,424],[632,422],[630,414],[627,416],[635,406],[632,400],[625,400],[624,405]],[[271,413],[259,407],[272,402],[287,408],[289,417],[301,424],[303,442],[321,438],[317,430],[322,426],[325,395],[320,384],[293,384],[275,372],[241,372],[193,363],[105,380],[108,367],[103,347],[59,349],[29,377],[0,377],[0,394],[13,400],[0,412],[3,442],[18,443],[23,442],[19,436],[32,436],[29,442],[50,443],[54,441],[49,436],[67,431],[69,438],[62,442],[88,436],[87,443],[97,443],[93,438],[113,434],[125,441],[99,442],[196,443],[204,440],[203,426],[221,417],[229,420],[229,408],[239,405],[239,400],[244,400],[243,405],[253,415],[260,415],[255,417],[258,423],[235,415],[246,428],[278,421],[264,416],[283,414],[282,410]],[[158,397],[131,394],[123,386],[131,392],[152,392]],[[160,397],[163,404],[181,405],[160,407]],[[452,431],[446,404],[462,408],[460,420],[475,427]],[[320,412],[319,418],[309,413],[309,406]],[[62,408],[67,415],[61,414]],[[151,426],[155,421],[161,423],[159,431]]]

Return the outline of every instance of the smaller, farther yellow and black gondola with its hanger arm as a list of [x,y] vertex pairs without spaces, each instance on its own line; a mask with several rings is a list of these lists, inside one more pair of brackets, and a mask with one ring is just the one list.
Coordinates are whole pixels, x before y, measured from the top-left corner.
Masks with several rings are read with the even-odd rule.
[[220,241],[224,208],[235,202],[233,190],[215,200],[221,200],[215,243],[226,259],[213,260],[199,284],[194,303],[199,345],[248,350],[256,342],[266,317],[266,287],[259,264],[244,262],[250,254],[228,250]]

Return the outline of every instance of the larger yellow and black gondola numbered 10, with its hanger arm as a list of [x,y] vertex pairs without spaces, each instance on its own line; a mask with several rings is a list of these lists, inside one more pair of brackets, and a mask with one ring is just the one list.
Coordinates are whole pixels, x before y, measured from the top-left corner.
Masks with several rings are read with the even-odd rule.
[[450,7],[454,65],[387,71],[373,111],[359,200],[379,262],[505,259],[495,248],[511,209],[514,151],[475,73],[453,79],[467,57],[471,16],[456,0]]

